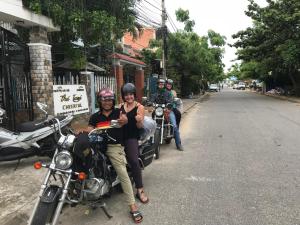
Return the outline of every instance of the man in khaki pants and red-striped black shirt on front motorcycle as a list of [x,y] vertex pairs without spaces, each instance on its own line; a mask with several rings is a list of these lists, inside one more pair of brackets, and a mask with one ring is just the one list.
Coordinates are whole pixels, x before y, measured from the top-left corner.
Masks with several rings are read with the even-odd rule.
[[[97,101],[99,104],[99,112],[94,113],[89,120],[89,125],[84,132],[90,132],[96,127],[101,127],[107,125],[107,122],[111,120],[118,120],[118,123],[123,126],[128,120],[126,114],[115,108],[115,94],[112,90],[108,88],[102,89],[97,94]],[[117,172],[118,178],[121,182],[122,189],[126,196],[126,202],[130,207],[130,213],[132,219],[135,223],[140,223],[143,220],[142,214],[138,211],[135,204],[135,198],[133,194],[133,189],[131,181],[129,179],[127,169],[126,169],[126,158],[124,147],[121,145],[123,143],[123,132],[120,128],[112,128],[107,131],[107,133],[115,139],[108,141],[106,155],[111,161],[114,169]]]

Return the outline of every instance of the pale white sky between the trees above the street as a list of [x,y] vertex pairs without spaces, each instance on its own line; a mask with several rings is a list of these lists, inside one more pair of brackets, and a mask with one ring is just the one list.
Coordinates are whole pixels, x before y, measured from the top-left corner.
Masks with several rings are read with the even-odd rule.
[[[260,6],[266,6],[265,0],[255,0]],[[182,8],[189,10],[190,19],[195,21],[194,31],[199,35],[206,35],[212,29],[226,36],[227,43],[234,43],[232,34],[252,26],[252,21],[245,15],[247,0],[165,0],[166,9],[178,29],[183,25],[176,21],[175,10]],[[168,24],[173,32],[172,26]],[[225,71],[235,62],[235,48],[225,47],[223,63]]]

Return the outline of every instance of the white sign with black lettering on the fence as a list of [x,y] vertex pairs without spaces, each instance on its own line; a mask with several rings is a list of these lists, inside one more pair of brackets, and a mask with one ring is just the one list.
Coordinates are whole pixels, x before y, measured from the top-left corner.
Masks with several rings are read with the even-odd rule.
[[84,85],[53,85],[54,114],[82,114],[89,112]]

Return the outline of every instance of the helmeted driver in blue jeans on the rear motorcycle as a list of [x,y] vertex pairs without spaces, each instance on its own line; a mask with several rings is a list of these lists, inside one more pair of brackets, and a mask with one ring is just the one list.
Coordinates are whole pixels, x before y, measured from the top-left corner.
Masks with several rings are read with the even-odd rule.
[[[151,102],[155,102],[158,104],[168,104],[168,103],[173,104],[174,98],[173,98],[172,93],[165,89],[165,80],[163,80],[163,79],[158,80],[158,90],[157,90],[157,93],[155,93],[152,96]],[[166,109],[166,110],[169,110],[170,123],[172,124],[172,126],[174,128],[174,139],[175,139],[175,143],[176,143],[176,148],[179,151],[183,151],[179,128],[177,126],[176,117],[173,112],[173,107],[170,109]]]

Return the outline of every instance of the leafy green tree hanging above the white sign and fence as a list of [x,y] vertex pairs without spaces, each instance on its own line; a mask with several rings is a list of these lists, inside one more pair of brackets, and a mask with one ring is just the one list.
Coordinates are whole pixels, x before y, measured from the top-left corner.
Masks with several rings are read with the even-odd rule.
[[[61,43],[68,55],[78,59],[95,45],[111,48],[125,31],[135,31],[136,0],[22,0],[25,7],[52,18],[61,31],[52,34],[53,43]],[[83,51],[73,48],[80,40]],[[83,53],[83,55],[82,55]],[[71,57],[71,58],[72,58]],[[81,58],[82,60],[82,57]]]

